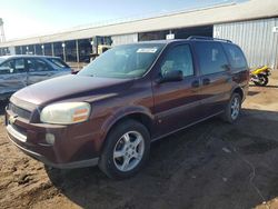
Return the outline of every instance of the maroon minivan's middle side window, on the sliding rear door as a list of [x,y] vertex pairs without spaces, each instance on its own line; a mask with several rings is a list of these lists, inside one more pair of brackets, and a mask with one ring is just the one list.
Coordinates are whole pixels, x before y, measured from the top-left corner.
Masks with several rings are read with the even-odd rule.
[[201,74],[212,74],[227,69],[228,61],[220,43],[197,42],[196,52]]

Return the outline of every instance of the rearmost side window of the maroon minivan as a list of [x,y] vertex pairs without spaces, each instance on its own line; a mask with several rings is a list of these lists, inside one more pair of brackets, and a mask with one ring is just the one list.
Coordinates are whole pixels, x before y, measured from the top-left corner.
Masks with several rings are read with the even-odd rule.
[[234,69],[247,68],[246,58],[241,49],[234,44],[225,44],[225,50],[228,53],[230,64]]

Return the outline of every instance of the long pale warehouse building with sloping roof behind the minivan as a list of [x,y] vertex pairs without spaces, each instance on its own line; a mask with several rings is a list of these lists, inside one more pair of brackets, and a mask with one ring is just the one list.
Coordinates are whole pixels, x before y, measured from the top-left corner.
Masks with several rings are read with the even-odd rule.
[[47,54],[66,61],[86,61],[96,36],[110,36],[112,44],[206,36],[239,44],[250,67],[278,68],[278,1],[249,0],[151,18],[90,26],[48,36],[0,42],[0,56]]

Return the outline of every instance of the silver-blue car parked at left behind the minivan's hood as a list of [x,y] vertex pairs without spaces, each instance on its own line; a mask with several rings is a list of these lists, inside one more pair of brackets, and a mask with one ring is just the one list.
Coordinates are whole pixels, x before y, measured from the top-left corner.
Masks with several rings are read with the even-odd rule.
[[36,82],[71,73],[70,67],[58,57],[0,57],[0,100]]

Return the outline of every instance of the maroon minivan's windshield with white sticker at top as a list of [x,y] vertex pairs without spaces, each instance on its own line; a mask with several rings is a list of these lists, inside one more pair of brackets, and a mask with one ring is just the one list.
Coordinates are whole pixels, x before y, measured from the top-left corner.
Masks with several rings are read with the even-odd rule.
[[78,74],[120,79],[140,78],[156,61],[163,47],[163,43],[115,47],[85,67]]

